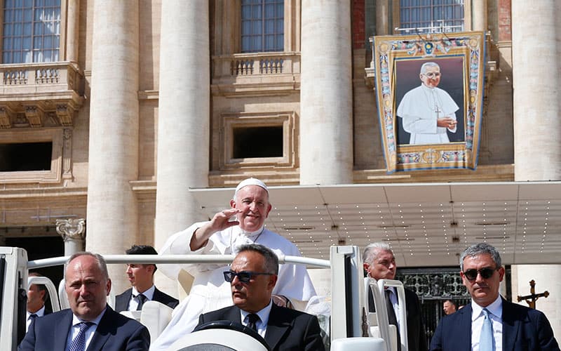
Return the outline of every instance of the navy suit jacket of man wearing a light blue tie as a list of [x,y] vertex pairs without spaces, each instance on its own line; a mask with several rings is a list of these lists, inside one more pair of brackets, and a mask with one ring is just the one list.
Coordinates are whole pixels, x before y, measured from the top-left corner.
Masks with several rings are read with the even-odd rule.
[[[471,350],[471,304],[438,323],[431,350]],[[546,316],[503,299],[503,351],[559,350]]]

